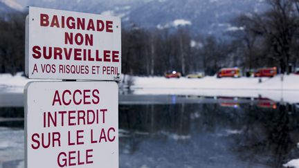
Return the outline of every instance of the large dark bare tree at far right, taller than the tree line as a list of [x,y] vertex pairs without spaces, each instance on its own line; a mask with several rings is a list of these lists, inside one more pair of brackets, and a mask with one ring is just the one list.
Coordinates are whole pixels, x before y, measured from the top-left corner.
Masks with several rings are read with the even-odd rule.
[[284,73],[288,70],[291,58],[295,57],[291,50],[298,30],[298,12],[294,1],[266,2],[270,6],[269,10],[262,14],[243,15],[239,17],[239,21],[244,24],[244,40],[247,39],[249,52],[255,46],[255,39],[262,38],[262,43],[257,45],[267,50],[265,56],[275,60],[276,65],[280,66],[281,72]]

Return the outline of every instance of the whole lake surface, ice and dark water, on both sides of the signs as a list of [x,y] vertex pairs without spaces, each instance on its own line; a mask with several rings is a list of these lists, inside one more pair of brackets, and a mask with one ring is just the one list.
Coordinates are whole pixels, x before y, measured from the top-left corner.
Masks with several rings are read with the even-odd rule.
[[[0,167],[21,168],[22,94],[1,94]],[[124,93],[120,167],[282,167],[299,158],[298,123],[296,101]]]

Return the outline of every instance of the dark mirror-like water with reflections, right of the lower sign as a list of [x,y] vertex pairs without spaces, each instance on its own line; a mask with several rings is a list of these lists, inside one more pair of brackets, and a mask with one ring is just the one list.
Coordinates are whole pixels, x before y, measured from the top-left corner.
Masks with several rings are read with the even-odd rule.
[[122,166],[282,167],[299,157],[296,104],[261,97],[254,103],[219,100],[217,104],[120,106],[120,156],[126,160],[120,159],[127,161]]

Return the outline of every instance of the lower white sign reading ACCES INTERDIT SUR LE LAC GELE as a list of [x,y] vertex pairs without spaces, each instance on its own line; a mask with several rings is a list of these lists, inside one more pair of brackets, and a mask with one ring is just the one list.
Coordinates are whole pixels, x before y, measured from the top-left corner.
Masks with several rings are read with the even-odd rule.
[[116,82],[30,82],[26,168],[118,168]]

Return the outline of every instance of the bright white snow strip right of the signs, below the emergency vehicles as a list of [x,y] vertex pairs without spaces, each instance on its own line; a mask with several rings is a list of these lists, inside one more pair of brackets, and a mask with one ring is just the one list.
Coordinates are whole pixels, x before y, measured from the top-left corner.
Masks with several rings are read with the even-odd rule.
[[234,89],[234,90],[298,90],[299,75],[284,75],[268,78],[240,77],[217,78],[204,77],[202,79],[167,79],[165,77],[134,77],[132,88],[196,88],[196,89]]

